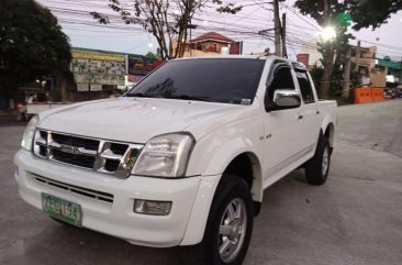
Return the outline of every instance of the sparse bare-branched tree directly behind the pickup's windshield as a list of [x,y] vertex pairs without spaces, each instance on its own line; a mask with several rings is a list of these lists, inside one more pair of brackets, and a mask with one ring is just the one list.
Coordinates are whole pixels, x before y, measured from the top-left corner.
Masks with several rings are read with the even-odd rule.
[[[132,10],[119,0],[109,0],[109,7],[115,11],[125,24],[137,24],[152,33],[159,45],[161,58],[181,57],[188,40],[188,29],[193,27],[192,18],[208,4],[216,5],[219,12],[236,13],[242,7],[221,0],[132,0]],[[110,23],[110,15],[91,12],[101,24]],[[174,42],[177,47],[174,48]]]

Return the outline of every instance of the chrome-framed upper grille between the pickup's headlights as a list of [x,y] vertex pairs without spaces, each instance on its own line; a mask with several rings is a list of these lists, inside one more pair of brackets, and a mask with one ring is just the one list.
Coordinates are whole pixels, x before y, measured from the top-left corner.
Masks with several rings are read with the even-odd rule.
[[143,147],[142,144],[36,130],[33,151],[42,158],[126,178]]

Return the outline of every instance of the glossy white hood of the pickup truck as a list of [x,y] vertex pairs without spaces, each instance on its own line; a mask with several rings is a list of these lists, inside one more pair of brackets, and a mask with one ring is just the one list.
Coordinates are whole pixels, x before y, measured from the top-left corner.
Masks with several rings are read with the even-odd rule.
[[250,109],[254,108],[202,101],[118,98],[42,112],[38,126],[133,143],[146,143],[153,136],[180,131],[192,133],[197,140],[228,122],[249,117]]

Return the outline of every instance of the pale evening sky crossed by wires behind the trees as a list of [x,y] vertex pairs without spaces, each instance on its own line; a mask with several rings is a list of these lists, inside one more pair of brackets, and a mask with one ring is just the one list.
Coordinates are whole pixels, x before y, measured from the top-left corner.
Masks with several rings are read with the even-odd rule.
[[[233,14],[220,14],[214,7],[206,8],[193,19],[198,29],[192,36],[209,31],[215,31],[235,41],[244,41],[244,54],[263,52],[269,47],[273,52],[272,38],[259,35],[257,32],[273,27],[272,8],[263,0],[233,0],[245,5],[243,10]],[[156,52],[155,37],[138,25],[125,25],[118,16],[112,16],[111,24],[100,25],[89,14],[90,11],[114,14],[108,8],[108,0],[37,0],[49,8],[58,18],[63,31],[69,36],[71,46],[105,49],[113,52],[146,54]],[[130,2],[122,0],[121,2]],[[315,49],[321,27],[310,16],[304,16],[293,7],[294,0],[281,3],[280,12],[287,14],[288,54],[290,58],[303,49]],[[372,31],[365,29],[351,32],[356,44],[361,41],[362,46],[378,46],[378,57],[386,55],[392,59],[402,60],[402,11],[392,14],[387,24]]]

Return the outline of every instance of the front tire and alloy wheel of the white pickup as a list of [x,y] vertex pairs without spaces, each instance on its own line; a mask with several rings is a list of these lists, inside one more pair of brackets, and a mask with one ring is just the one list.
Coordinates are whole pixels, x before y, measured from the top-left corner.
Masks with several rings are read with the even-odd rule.
[[[239,218],[232,219],[236,213]],[[227,225],[221,228],[221,223]],[[197,245],[182,247],[183,264],[241,265],[252,239],[253,224],[249,187],[237,176],[223,175],[212,201],[203,240]]]

